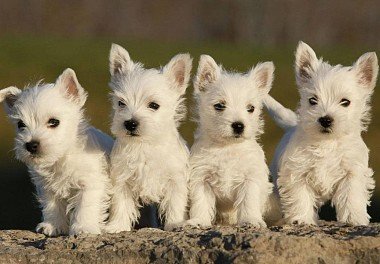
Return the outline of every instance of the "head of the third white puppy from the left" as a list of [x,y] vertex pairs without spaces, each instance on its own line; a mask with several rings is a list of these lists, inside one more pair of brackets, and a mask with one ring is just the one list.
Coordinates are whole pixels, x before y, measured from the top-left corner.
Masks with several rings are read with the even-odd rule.
[[194,80],[199,133],[214,141],[235,142],[262,132],[262,100],[273,81],[272,62],[246,74],[230,73],[208,55],[200,57]]

